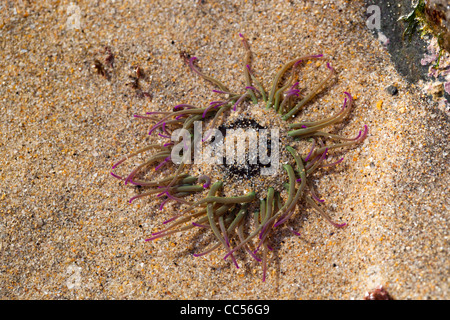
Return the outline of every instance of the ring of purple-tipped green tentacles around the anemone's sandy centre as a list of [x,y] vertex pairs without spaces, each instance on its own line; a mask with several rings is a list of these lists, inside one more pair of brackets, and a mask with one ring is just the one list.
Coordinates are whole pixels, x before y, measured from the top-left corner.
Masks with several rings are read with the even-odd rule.
[[[135,195],[129,201],[152,196],[159,198],[160,210],[168,202],[179,204],[177,213],[163,222],[164,228],[151,234],[146,241],[167,237],[175,233],[194,228],[209,230],[216,241],[194,256],[203,256],[221,248],[224,259],[231,259],[239,268],[238,252],[246,252],[257,262],[262,264],[263,276],[266,279],[269,252],[273,250],[274,232],[286,227],[294,234],[299,235],[293,226],[292,217],[298,211],[299,204],[307,204],[317,211],[334,227],[342,228],[345,223],[334,222],[325,210],[319,206],[324,200],[319,198],[311,182],[312,175],[322,169],[339,164],[343,158],[334,162],[327,162],[330,151],[337,148],[350,147],[361,143],[367,136],[368,129],[364,129],[354,138],[342,137],[333,133],[322,131],[324,128],[342,122],[352,110],[354,101],[350,93],[344,92],[345,99],[342,107],[334,115],[318,121],[301,121],[286,125],[288,141],[281,150],[288,161],[282,165],[279,185],[270,185],[264,193],[249,190],[241,195],[224,194],[224,179],[213,179],[209,174],[196,175],[190,170],[191,156],[183,156],[181,160],[174,161],[174,152],[190,155],[188,151],[199,143],[194,134],[196,122],[204,123],[209,129],[220,129],[221,123],[230,113],[237,113],[244,105],[257,105],[263,101],[261,109],[272,110],[272,117],[278,117],[284,122],[292,122],[299,112],[314,97],[323,90],[330,79],[335,77],[336,71],[329,62],[326,63],[327,75],[315,85],[309,93],[302,96],[299,89],[298,69],[307,61],[324,60],[322,54],[305,55],[287,62],[276,74],[271,88],[266,91],[258,81],[251,64],[250,46],[242,34],[239,34],[246,56],[243,63],[245,84],[240,93],[231,91],[219,80],[206,75],[196,64],[196,57],[184,56],[190,70],[213,84],[213,92],[223,97],[221,100],[206,104],[199,108],[189,104],[179,104],[171,111],[148,112],[146,115],[135,117],[152,121],[149,134],[158,134],[159,137],[169,139],[165,143],[148,145],[130,153],[113,165],[119,165],[136,156],[144,156],[151,151],[146,160],[134,167],[127,175],[111,173],[115,178],[127,185],[139,186],[142,193]],[[289,75],[288,77],[286,75]],[[259,105],[258,105],[259,107]],[[220,119],[222,118],[222,122]],[[223,125],[223,124],[222,124]],[[176,145],[171,137],[177,130],[186,135],[187,139],[181,147]],[[178,135],[178,138],[180,135]],[[203,137],[202,142],[210,138],[210,134]],[[196,140],[197,139],[197,140]],[[298,141],[309,144],[309,148],[302,155],[294,147]],[[328,141],[331,141],[327,144]],[[177,149],[178,148],[178,149]],[[250,149],[250,148],[249,148]],[[272,150],[273,151],[273,150]],[[246,177],[251,179],[252,177]],[[260,180],[264,180],[264,177]],[[214,181],[216,180],[216,181]],[[269,179],[267,179],[269,181]]]

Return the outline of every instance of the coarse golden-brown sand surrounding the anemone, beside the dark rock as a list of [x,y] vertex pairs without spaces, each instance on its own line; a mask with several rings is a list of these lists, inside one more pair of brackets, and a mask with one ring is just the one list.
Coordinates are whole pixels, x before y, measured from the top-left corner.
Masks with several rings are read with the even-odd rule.
[[[344,300],[383,285],[394,299],[448,299],[449,109],[397,73],[365,12],[344,0],[2,1],[0,298]],[[304,116],[329,114],[350,91],[339,132],[369,127],[315,180],[348,226],[302,206],[301,236],[277,234],[264,283],[251,259],[236,269],[224,251],[193,257],[195,232],[145,242],[172,207],[129,204],[136,189],[110,175],[151,139],[134,114],[216,98],[181,52],[242,87],[239,32],[266,86],[296,56],[331,57],[339,80]]]

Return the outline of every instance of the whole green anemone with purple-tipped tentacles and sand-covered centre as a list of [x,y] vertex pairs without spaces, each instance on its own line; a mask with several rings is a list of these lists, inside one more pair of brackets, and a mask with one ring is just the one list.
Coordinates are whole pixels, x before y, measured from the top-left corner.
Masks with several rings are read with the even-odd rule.
[[[134,168],[128,174],[111,174],[126,185],[139,187],[141,193],[132,197],[130,202],[151,196],[160,199],[160,210],[167,209],[168,203],[172,204],[170,219],[164,221],[163,227],[146,241],[195,228],[210,232],[215,240],[194,256],[221,250],[223,258],[230,259],[239,268],[242,253],[248,253],[251,259],[262,264],[262,279],[265,281],[275,233],[287,228],[299,235],[292,219],[299,207],[312,207],[336,228],[346,225],[334,222],[321,206],[324,200],[316,195],[312,177],[323,168],[338,165],[343,158],[328,160],[335,155],[332,150],[361,143],[368,129],[364,126],[356,137],[323,131],[342,122],[351,112],[354,101],[348,92],[343,93],[342,106],[329,117],[317,121],[298,120],[308,102],[336,76],[335,69],[322,54],[305,55],[287,62],[266,91],[250,67],[249,43],[242,34],[239,36],[246,52],[243,63],[245,82],[241,92],[233,92],[205,74],[196,57],[184,56],[190,70],[214,85],[213,91],[221,98],[200,107],[179,104],[171,111],[135,115],[152,123],[149,134],[165,140],[132,152],[113,165],[116,172],[124,162],[145,159],[140,164],[133,164]],[[311,61],[326,68],[327,74],[308,92],[302,93],[299,71]],[[198,128],[208,130],[199,135]],[[270,143],[268,128],[274,133]],[[230,130],[248,138],[247,147],[244,144],[243,148],[237,148],[235,155],[247,155],[249,163],[233,162],[234,158],[231,159],[228,153],[228,143],[226,156],[219,152],[223,151],[219,148],[223,140],[232,140]],[[256,134],[255,139],[249,132]],[[177,143],[180,138],[183,141]],[[250,161],[255,160],[255,156],[252,158],[250,154],[256,150],[258,141],[260,154],[256,158],[259,164]],[[204,157],[201,158],[198,152],[192,154],[192,150],[198,151],[199,145],[208,142],[208,146],[213,146],[210,149],[215,150],[216,157],[214,161],[201,162],[199,159]],[[269,163],[271,171],[263,174],[262,170],[269,169]]]

